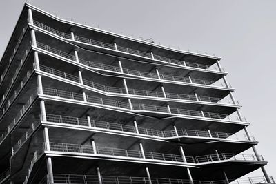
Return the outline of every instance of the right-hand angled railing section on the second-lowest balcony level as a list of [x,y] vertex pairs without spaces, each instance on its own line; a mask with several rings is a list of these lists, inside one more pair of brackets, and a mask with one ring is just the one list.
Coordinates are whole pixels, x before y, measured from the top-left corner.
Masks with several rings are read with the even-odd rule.
[[221,154],[208,154],[208,155],[201,155],[195,156],[195,161],[197,163],[204,163],[204,162],[213,162],[213,161],[264,161],[262,155],[259,155],[260,160],[253,154],[228,154],[228,153],[221,153]]

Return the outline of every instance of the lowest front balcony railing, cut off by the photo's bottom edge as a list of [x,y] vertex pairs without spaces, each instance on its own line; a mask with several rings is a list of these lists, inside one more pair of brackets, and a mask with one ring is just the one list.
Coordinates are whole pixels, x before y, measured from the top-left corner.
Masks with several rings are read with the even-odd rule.
[[[51,178],[52,177],[52,178]],[[271,177],[272,178],[272,177]],[[132,176],[100,176],[101,183],[116,183],[116,184],[190,184],[188,179],[177,179],[177,178],[149,178],[147,177],[132,177]],[[99,184],[99,177],[97,175],[78,175],[78,174],[52,174],[46,175],[41,179],[39,184],[50,184],[50,181],[60,184],[73,184],[73,183],[95,183]],[[267,183],[264,176],[259,177],[249,177],[249,178],[239,178],[231,184],[257,184],[257,183]],[[273,180],[272,180],[273,181]],[[226,184],[224,180],[221,181],[196,181],[193,180],[195,184]],[[273,181],[273,183],[275,183]],[[52,183],[51,183],[52,184]]]

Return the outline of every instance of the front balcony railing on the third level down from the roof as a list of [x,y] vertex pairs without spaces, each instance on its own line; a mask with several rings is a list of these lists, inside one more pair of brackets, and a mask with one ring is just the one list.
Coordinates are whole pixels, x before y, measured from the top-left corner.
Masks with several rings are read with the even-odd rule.
[[[53,74],[59,77],[62,77],[64,79],[68,79],[70,81],[75,81],[77,83],[80,83],[79,77],[74,76],[72,74],[68,74],[66,72],[62,72],[60,70],[56,70],[44,65],[40,65],[40,70],[43,72],[47,72],[49,74]],[[101,90],[103,92],[109,92],[109,93],[119,93],[119,94],[126,94],[125,88],[118,88],[118,87],[112,87],[112,86],[106,86],[99,83],[95,83],[93,81],[88,81],[86,79],[83,79],[83,85],[87,85],[91,88],[95,88],[97,90]],[[158,97],[158,98],[165,98],[163,92],[153,92],[153,91],[147,91],[147,90],[137,90],[137,89],[128,89],[128,93],[130,95],[137,95],[137,96],[151,96],[151,97]],[[182,99],[182,100],[188,100],[188,101],[207,101],[210,103],[220,103],[221,99],[219,98],[213,98],[208,96],[198,96],[198,98],[195,95],[190,94],[175,94],[175,93],[166,93],[166,98],[168,99]],[[228,101],[230,103],[231,101]],[[231,103],[233,104],[233,103]]]

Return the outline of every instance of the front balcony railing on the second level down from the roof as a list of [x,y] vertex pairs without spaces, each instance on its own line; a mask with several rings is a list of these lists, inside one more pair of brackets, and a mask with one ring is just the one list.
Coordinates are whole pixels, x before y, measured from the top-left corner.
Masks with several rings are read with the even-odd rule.
[[[72,61],[76,61],[75,56],[68,54],[66,52],[63,52],[61,50],[57,50],[55,48],[51,48],[48,45],[44,45],[43,43],[37,42],[37,47],[41,48],[43,50],[46,50],[48,52],[51,52],[53,54],[57,54],[60,57],[64,57],[66,59],[70,59]],[[113,65],[105,65],[101,63],[95,63],[91,61],[86,61],[84,59],[79,58],[79,63],[82,63],[83,65],[87,65],[90,68],[99,68],[102,70],[108,70],[112,72],[119,72],[121,74],[121,69],[118,67],[115,67]],[[127,68],[123,68],[123,73],[124,74],[131,74],[135,76],[142,76],[142,77],[147,77],[151,79],[159,79],[158,75],[155,73],[149,73],[149,72],[140,72],[137,70],[130,70]],[[165,75],[165,74],[160,74],[160,80],[162,81],[176,81],[176,82],[181,82],[181,83],[193,83],[193,84],[199,84],[199,85],[213,85],[217,87],[224,87],[227,88],[227,86],[224,83],[218,83],[215,81],[210,81],[210,80],[204,80],[204,79],[193,79],[193,78],[188,78],[188,77],[182,77],[182,76],[171,76],[171,75]]]

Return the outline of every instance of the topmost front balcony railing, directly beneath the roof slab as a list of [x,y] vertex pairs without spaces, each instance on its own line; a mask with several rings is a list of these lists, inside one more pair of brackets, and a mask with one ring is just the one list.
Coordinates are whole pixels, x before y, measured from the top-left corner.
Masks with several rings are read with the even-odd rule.
[[[44,25],[43,23],[39,23],[38,21],[34,21],[34,25],[37,26],[38,28],[46,30],[47,32],[51,32],[52,34],[55,34],[55,35],[57,35],[59,37],[62,37],[64,39],[71,39],[72,40],[72,36],[70,34],[60,32],[58,30],[50,28],[49,26]],[[80,36],[77,36],[77,35],[74,36],[74,39],[75,39],[75,41],[78,41],[78,42],[81,42],[81,43],[86,43],[86,44],[95,45],[95,46],[98,46],[98,47],[101,47],[101,48],[116,50],[116,47],[115,47],[114,44],[104,43],[104,42],[101,42],[101,41],[88,39],[86,37],[80,37]],[[153,57],[152,57],[152,55],[148,52],[142,52],[140,50],[125,48],[125,47],[122,47],[122,46],[119,46],[119,45],[117,45],[117,51],[128,53],[128,54],[134,54],[134,55],[137,55],[137,56],[140,56],[140,57],[146,57],[148,59],[155,59],[155,60],[158,60],[158,61],[163,61],[163,62],[166,62],[166,63],[173,64],[173,65],[181,65],[181,66],[189,67],[189,68],[200,68],[200,69],[210,70],[210,71],[212,71],[212,70],[219,71],[218,68],[212,67],[210,65],[203,65],[203,64],[199,64],[199,63],[190,63],[190,62],[187,62],[187,61],[180,61],[180,60],[177,60],[177,59],[170,59],[170,58],[166,58],[166,57],[161,57],[157,54],[153,54]]]

